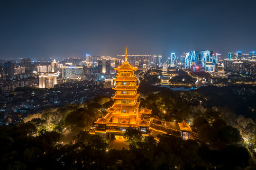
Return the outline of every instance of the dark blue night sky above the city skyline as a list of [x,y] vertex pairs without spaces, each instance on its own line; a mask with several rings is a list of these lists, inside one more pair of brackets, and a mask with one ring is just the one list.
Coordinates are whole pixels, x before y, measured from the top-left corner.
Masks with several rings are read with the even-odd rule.
[[256,51],[256,0],[0,0],[0,58]]

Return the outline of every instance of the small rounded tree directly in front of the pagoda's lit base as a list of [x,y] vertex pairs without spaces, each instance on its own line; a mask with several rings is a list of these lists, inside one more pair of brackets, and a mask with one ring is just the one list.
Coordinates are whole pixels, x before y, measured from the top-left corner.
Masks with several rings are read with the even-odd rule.
[[139,129],[128,127],[124,133],[124,138],[129,144],[129,147],[137,147],[137,143],[142,139],[142,134]]

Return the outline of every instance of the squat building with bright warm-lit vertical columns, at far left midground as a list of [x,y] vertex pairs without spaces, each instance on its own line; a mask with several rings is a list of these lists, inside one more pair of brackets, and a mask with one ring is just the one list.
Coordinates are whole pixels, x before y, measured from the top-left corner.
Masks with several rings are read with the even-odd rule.
[[43,73],[39,76],[39,88],[54,88],[57,84],[57,75],[51,73]]

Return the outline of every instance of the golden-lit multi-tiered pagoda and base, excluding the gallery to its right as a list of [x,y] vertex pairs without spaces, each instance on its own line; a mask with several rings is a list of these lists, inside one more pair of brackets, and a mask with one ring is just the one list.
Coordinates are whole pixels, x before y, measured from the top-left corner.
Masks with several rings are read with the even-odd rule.
[[132,67],[127,61],[122,66],[114,68],[117,71],[114,104],[107,110],[107,115],[95,123],[95,134],[107,139],[122,139],[127,127],[139,128],[144,135],[148,134],[151,110],[138,111],[137,77],[134,73],[137,67]]

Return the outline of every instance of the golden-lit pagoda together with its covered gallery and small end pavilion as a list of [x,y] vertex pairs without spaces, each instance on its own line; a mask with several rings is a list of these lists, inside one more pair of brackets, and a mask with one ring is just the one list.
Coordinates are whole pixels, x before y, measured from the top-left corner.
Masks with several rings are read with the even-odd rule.
[[122,66],[114,68],[117,71],[115,87],[116,93],[112,99],[114,104],[107,110],[107,115],[99,118],[91,134],[99,135],[106,139],[123,139],[127,127],[139,129],[144,136],[168,134],[173,131],[180,131],[183,139],[189,139],[189,132],[192,130],[185,121],[177,124],[174,122],[162,121],[151,118],[151,111],[147,108],[138,110],[137,102],[137,77],[134,73],[137,67],[132,67],[127,61],[127,49],[125,62]]

